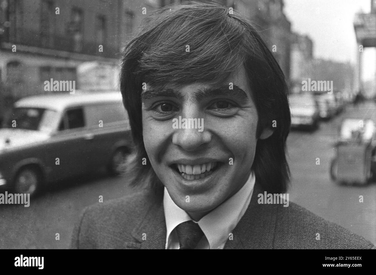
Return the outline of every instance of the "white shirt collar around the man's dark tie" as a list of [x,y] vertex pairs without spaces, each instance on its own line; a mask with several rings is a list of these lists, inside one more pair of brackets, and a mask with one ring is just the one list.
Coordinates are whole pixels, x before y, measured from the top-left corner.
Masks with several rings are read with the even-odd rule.
[[[249,206],[254,185],[255,173],[252,171],[246,183],[237,193],[197,222],[211,249],[223,249],[229,239],[229,233],[238,224]],[[192,219],[173,202],[166,188],[164,188],[163,207],[167,229],[166,249],[178,248],[179,244],[176,244],[176,238],[173,238],[173,231],[180,223]]]

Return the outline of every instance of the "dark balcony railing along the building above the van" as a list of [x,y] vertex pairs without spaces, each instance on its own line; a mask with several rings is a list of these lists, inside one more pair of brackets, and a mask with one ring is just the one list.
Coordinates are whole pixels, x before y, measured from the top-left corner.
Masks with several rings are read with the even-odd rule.
[[[96,43],[95,41],[79,39],[73,35],[52,35],[27,29],[17,29],[14,33],[6,33],[2,41],[107,58],[118,58],[120,56],[119,50],[108,43]],[[99,45],[103,45],[103,52],[99,52]]]

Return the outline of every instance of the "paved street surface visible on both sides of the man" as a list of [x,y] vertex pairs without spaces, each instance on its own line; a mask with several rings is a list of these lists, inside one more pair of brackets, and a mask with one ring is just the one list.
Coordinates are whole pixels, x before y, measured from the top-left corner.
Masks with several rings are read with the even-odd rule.
[[[315,132],[293,131],[288,138],[288,160],[292,181],[290,201],[296,202],[327,220],[336,222],[376,243],[376,184],[340,186],[330,180],[329,166],[333,144],[344,117],[373,117],[376,105],[349,107],[340,116],[322,122]],[[316,165],[320,158],[320,165]],[[69,184],[68,184],[69,183]],[[88,205],[118,198],[132,192],[121,177],[99,173],[64,182],[64,187],[42,193],[30,207],[0,205],[0,248],[68,248],[73,225]],[[359,202],[359,195],[364,202]],[[59,233],[60,240],[55,240]],[[314,238],[315,236],[312,236]]]

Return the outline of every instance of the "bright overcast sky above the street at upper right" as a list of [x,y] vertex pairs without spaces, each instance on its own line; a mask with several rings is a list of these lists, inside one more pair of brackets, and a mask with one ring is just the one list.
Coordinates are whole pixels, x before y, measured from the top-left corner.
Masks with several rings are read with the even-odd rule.
[[[356,62],[355,13],[370,12],[370,0],[284,0],[293,32],[314,42],[314,57]],[[374,77],[375,49],[365,49],[364,76]]]

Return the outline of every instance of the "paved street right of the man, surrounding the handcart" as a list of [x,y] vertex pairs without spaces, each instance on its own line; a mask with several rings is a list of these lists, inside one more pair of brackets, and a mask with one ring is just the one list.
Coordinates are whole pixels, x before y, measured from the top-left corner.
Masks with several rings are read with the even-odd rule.
[[[335,119],[321,123],[314,133],[294,131],[289,135],[288,161],[293,178],[290,200],[376,243],[376,184],[341,186],[334,184],[329,175],[335,155],[333,144],[345,117],[376,122],[376,105],[349,106]],[[316,158],[320,158],[320,165],[315,164]],[[363,203],[359,202],[359,195],[364,197]]]

